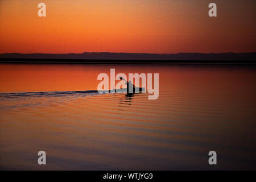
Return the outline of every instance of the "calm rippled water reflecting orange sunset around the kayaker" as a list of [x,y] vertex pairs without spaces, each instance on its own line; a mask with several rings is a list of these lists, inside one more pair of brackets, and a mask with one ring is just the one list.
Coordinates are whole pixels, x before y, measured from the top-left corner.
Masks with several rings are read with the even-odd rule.
[[[158,100],[98,94],[110,68],[159,73]],[[255,169],[255,78],[255,66],[0,64],[0,167]]]

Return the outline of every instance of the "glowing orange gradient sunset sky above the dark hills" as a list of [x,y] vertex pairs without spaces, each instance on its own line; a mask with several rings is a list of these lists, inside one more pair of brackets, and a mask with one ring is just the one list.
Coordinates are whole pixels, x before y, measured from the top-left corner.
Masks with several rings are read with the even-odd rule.
[[255,0],[1,0],[0,53],[254,52],[255,8]]

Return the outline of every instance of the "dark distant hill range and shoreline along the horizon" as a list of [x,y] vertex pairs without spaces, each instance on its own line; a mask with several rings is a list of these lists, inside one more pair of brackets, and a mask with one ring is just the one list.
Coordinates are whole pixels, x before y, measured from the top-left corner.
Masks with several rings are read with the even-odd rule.
[[38,60],[51,61],[85,61],[90,60],[141,60],[141,61],[255,61],[256,52],[249,53],[177,53],[177,54],[156,54],[156,53],[111,53],[111,52],[84,52],[84,53],[67,53],[67,54],[48,54],[48,53],[2,53],[0,60]]

